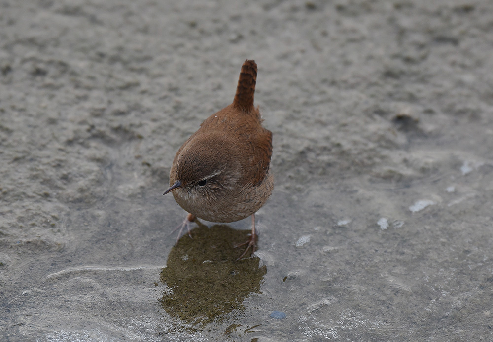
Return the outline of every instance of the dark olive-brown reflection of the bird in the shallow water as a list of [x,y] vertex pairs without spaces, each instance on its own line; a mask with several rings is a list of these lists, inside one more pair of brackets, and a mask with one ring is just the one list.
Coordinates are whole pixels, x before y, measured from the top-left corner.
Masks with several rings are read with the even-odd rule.
[[188,323],[209,323],[233,310],[242,310],[250,293],[260,293],[266,267],[258,257],[236,260],[250,230],[199,223],[192,239],[185,234],[172,248],[161,281],[170,291],[160,302],[166,312]]

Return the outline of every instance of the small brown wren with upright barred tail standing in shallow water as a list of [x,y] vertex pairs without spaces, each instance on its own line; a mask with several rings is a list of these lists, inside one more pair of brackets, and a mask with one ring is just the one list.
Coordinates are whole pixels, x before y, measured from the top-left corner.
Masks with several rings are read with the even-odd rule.
[[251,236],[241,244],[247,248],[240,258],[249,248],[255,250],[255,212],[274,188],[269,171],[272,133],[262,127],[258,108],[253,107],[256,79],[255,61],[246,60],[233,103],[209,116],[180,147],[164,193],[173,191],[189,213],[179,235],[184,227],[190,235],[195,217],[229,223],[251,215]]

